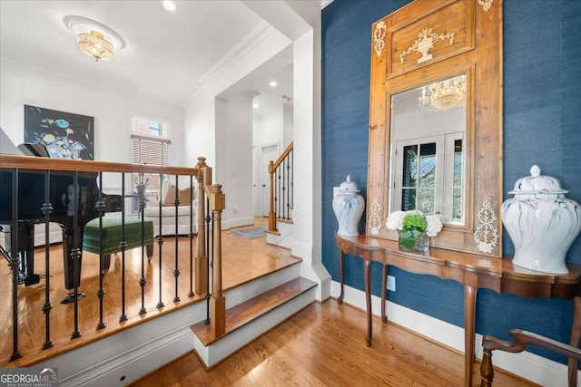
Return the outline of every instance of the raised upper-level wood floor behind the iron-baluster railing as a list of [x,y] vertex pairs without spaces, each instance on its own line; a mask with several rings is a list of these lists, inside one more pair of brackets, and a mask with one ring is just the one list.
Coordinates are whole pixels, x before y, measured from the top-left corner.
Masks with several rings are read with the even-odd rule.
[[[266,225],[266,218],[256,218],[257,227]],[[243,227],[240,227],[243,228]],[[194,238],[194,255],[197,237]],[[189,296],[190,293],[190,240],[178,238],[178,267],[180,276],[175,285],[175,239],[165,237],[162,245],[161,272],[159,246],[154,244],[153,259],[144,259],[143,273],[146,281],[143,305],[146,313],[139,314],[142,308],[142,288],[139,284],[142,277],[142,249],[135,248],[125,252],[125,310],[127,321],[120,322],[122,308],[122,256],[111,257],[109,272],[103,276],[103,329],[97,329],[99,323],[99,263],[98,256],[84,252],[80,291],[86,294],[78,303],[78,330],[81,337],[72,339],[74,332],[74,304],[61,305],[60,300],[66,295],[63,279],[62,247],[50,247],[50,338],[52,348],[42,349],[45,341],[45,317],[43,314],[44,279],[39,284],[18,286],[18,349],[23,357],[9,362],[13,353],[13,319],[12,319],[12,274],[3,259],[0,264],[0,367],[21,367],[41,362],[45,359],[69,351],[70,349],[99,340],[106,335],[114,334],[133,324],[141,324],[150,318],[167,314],[174,309],[199,302],[203,295]],[[44,247],[35,250],[35,271],[45,272]],[[300,261],[291,256],[288,249],[266,244],[265,238],[244,239],[222,232],[222,285],[224,290],[232,286],[251,281],[283,267]],[[161,292],[160,292],[160,284]],[[178,295],[180,301],[174,302]],[[160,302],[163,307],[156,305]]]

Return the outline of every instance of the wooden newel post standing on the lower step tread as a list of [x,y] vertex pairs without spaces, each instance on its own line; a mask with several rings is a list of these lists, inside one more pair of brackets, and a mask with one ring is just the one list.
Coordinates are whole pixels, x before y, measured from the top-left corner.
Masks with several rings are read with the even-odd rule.
[[212,185],[210,209],[213,217],[213,277],[210,299],[210,329],[214,338],[226,333],[226,297],[222,293],[222,210],[226,208],[226,196],[222,185]]

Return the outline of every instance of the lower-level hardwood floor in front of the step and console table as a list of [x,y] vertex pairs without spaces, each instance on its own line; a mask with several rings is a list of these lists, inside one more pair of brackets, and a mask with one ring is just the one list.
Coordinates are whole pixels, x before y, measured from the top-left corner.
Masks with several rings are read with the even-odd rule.
[[[133,387],[462,386],[464,356],[396,324],[380,324],[365,343],[365,313],[334,299],[315,303],[206,371],[194,353],[153,371]],[[479,364],[474,382],[479,384]],[[495,370],[501,386],[533,386]]]

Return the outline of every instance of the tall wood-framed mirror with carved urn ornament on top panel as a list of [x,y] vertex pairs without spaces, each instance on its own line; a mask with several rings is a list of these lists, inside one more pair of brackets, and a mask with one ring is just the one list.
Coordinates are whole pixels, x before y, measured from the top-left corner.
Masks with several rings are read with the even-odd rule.
[[431,245],[501,256],[502,3],[416,0],[372,26],[366,234],[441,214]]

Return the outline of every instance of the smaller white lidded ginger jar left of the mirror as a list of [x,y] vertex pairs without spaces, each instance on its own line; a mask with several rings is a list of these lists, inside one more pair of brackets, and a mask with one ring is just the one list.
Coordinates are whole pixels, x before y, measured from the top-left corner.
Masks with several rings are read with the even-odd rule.
[[347,177],[340,187],[333,188],[333,211],[339,222],[337,235],[342,237],[357,237],[359,235],[358,225],[363,210],[365,200],[358,194],[357,184]]

